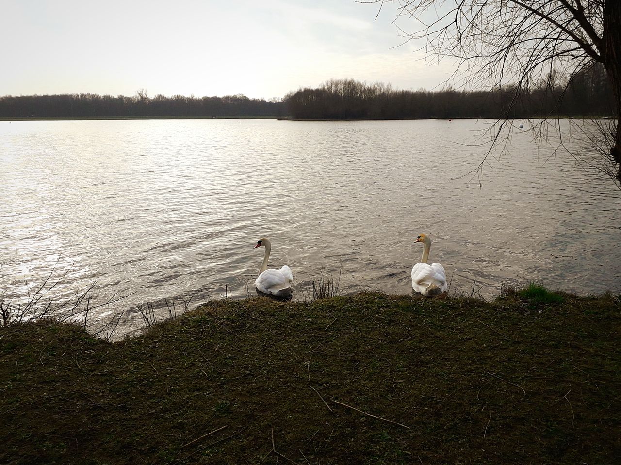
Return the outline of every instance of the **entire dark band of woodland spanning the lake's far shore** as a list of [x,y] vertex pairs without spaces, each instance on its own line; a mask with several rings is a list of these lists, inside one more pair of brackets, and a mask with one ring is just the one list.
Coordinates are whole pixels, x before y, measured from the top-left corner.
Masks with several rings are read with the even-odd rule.
[[[517,92],[519,90],[519,92]],[[518,97],[516,97],[518,95]],[[559,82],[548,74],[532,89],[402,91],[389,84],[332,79],[316,89],[289,92],[282,102],[225,97],[132,97],[97,94],[0,97],[0,117],[283,117],[311,119],[601,117],[614,114],[601,66]]]

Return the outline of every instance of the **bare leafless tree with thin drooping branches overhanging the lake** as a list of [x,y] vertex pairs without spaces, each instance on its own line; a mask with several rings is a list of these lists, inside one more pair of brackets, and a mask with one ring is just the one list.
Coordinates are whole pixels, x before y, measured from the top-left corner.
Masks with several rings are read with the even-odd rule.
[[[544,79],[566,89],[579,73],[603,66],[614,94],[615,120],[599,120],[587,136],[602,166],[621,181],[621,0],[360,2],[379,4],[379,11],[396,3],[396,20],[418,24],[415,32],[399,28],[406,42],[426,40],[422,49],[427,53],[456,59],[454,77],[463,73],[469,86],[509,88],[513,102]],[[497,122],[488,155],[506,126],[510,130],[509,115]]]

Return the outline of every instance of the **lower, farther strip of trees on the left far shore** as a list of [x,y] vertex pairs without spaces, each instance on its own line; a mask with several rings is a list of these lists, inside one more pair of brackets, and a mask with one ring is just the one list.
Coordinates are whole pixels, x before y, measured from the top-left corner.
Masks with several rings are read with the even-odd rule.
[[125,97],[97,94],[27,95],[0,97],[0,117],[280,117],[283,102],[225,97],[148,97],[140,89]]

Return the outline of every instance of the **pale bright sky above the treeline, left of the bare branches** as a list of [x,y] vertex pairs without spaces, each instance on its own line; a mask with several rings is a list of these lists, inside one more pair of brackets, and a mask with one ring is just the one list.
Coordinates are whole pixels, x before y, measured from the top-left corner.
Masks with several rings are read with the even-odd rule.
[[[162,94],[280,99],[328,79],[442,86],[394,24],[354,0],[0,0],[0,96]],[[407,29],[407,22],[399,25]],[[414,30],[412,24],[410,30]]]

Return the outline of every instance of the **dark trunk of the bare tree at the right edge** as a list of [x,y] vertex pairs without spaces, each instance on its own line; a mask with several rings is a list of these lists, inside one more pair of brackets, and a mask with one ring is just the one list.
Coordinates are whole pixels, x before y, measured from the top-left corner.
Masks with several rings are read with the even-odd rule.
[[617,180],[621,182],[621,1],[605,0],[604,3],[604,66],[615,96],[617,131],[610,157],[617,164]]

